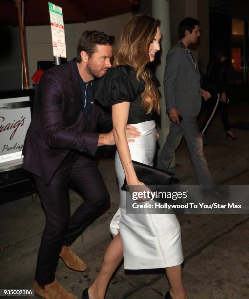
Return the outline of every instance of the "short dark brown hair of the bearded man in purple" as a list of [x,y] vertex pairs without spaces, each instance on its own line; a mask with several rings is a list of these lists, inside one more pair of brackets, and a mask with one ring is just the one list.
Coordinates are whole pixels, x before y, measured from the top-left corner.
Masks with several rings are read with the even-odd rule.
[[85,51],[89,57],[95,52],[95,45],[113,45],[115,37],[113,35],[107,35],[100,31],[86,30],[80,36],[77,44],[77,62],[81,62],[81,51]]

